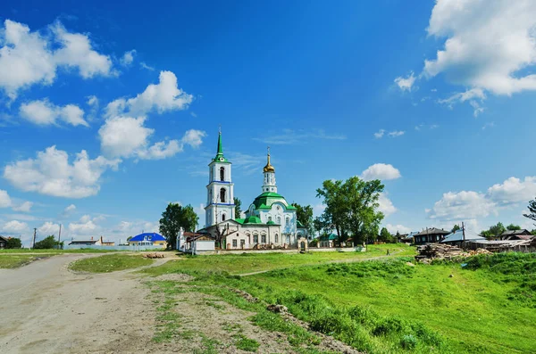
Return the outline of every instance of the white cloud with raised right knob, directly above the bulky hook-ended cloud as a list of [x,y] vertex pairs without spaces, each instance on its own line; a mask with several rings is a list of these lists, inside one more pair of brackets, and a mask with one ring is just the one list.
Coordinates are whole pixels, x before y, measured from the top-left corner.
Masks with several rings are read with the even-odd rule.
[[188,108],[193,96],[188,95],[177,86],[177,77],[172,71],[161,71],[160,82],[150,84],[145,91],[134,98],[119,98],[108,103],[108,117],[130,115],[134,117],[146,115],[150,111],[163,113]]

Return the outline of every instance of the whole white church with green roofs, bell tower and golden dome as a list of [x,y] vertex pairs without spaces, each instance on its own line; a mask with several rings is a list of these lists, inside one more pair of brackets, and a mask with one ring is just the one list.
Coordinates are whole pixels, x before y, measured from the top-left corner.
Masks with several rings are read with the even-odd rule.
[[231,162],[223,156],[222,133],[216,156],[208,165],[205,228],[198,234],[218,239],[227,250],[306,248],[306,228],[297,221],[296,208],[278,193],[275,169],[268,150],[261,194],[246,210],[246,218],[235,215]]

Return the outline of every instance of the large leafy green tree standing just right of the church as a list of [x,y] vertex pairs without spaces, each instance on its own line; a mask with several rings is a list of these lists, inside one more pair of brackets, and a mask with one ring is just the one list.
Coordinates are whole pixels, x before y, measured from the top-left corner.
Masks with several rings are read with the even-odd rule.
[[346,181],[326,180],[316,196],[323,198],[326,209],[320,219],[322,224],[335,229],[339,243],[352,235],[355,243],[361,243],[378,235],[383,213],[378,211],[378,199],[384,186],[378,179],[364,181],[350,177]]

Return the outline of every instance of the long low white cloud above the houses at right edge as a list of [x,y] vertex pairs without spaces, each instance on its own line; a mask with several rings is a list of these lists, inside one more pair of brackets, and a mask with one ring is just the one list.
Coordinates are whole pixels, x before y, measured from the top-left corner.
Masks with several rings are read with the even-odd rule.
[[485,218],[510,205],[529,202],[536,194],[536,177],[510,177],[490,186],[486,193],[474,191],[448,192],[425,210],[429,218],[452,221]]

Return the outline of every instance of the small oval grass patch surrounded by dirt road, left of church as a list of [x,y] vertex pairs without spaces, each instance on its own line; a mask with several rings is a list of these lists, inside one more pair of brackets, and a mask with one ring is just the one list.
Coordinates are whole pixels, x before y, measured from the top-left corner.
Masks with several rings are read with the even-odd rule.
[[116,270],[139,268],[153,263],[153,259],[126,254],[110,254],[72,262],[69,268],[80,272],[107,273]]

